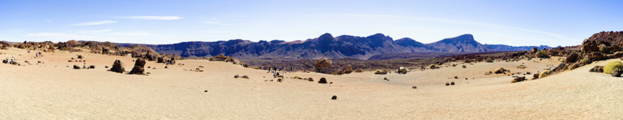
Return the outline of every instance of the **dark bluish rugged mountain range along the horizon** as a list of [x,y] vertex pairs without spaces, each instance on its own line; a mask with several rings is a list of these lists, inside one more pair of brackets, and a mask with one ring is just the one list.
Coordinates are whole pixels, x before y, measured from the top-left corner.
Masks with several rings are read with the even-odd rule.
[[[120,46],[132,44],[118,44]],[[145,45],[145,44],[141,44]],[[252,42],[249,40],[227,40],[217,42],[181,42],[178,44],[146,45],[158,53],[171,53],[183,57],[211,57],[227,55],[237,58],[359,58],[368,59],[374,55],[411,52],[495,52],[530,50],[532,47],[508,45],[482,45],[471,34],[460,35],[430,44],[422,44],[410,38],[393,40],[383,34],[368,37],[323,34],[315,39],[285,42],[283,40]],[[537,48],[551,48],[540,46]],[[410,55],[412,55],[411,53]],[[452,53],[455,54],[455,53]],[[417,56],[417,55],[416,55]],[[429,55],[423,55],[429,56]]]

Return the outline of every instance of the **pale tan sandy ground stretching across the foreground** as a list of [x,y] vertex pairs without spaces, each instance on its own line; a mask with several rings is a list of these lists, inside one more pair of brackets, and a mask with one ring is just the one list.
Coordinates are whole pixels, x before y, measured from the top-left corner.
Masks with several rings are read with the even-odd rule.
[[[265,70],[225,62],[179,60],[185,65],[168,69],[148,62],[146,66],[156,69],[146,69],[151,74],[143,76],[104,68],[120,59],[130,71],[130,57],[57,52],[34,58],[17,48],[0,52],[7,53],[0,58],[33,63],[0,64],[0,119],[623,119],[622,78],[588,72],[607,62],[520,83],[510,83],[511,76],[484,73],[499,67],[543,71],[546,64],[559,62],[476,63],[467,68],[459,64],[406,75],[285,74],[333,82],[322,85],[289,78],[279,83]],[[82,67],[83,63],[67,62],[78,54],[96,68],[72,69]],[[45,63],[36,65],[37,61]],[[528,68],[515,68],[522,62]],[[199,65],[205,72],[184,71]],[[459,79],[448,79],[455,75]],[[444,85],[450,81],[457,85]],[[411,88],[414,85],[417,89]],[[333,95],[338,99],[331,100]]]

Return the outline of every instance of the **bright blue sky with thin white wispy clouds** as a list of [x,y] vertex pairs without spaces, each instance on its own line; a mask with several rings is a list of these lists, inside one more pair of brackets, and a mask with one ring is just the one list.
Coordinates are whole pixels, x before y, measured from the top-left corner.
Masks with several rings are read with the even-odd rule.
[[579,45],[623,30],[621,1],[0,1],[0,40],[174,44],[389,35]]

